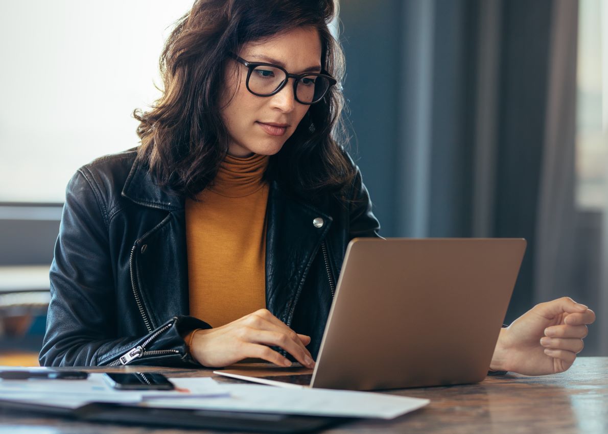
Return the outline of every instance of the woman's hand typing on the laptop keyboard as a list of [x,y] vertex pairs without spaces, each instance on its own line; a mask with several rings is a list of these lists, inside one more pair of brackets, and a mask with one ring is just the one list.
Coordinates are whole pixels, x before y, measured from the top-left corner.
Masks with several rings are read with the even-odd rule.
[[305,347],[309,343],[309,336],[297,334],[268,309],[260,309],[221,327],[196,331],[190,353],[210,368],[232,365],[247,357],[288,367],[291,362],[270,348],[279,346],[303,366],[314,368],[313,357]]

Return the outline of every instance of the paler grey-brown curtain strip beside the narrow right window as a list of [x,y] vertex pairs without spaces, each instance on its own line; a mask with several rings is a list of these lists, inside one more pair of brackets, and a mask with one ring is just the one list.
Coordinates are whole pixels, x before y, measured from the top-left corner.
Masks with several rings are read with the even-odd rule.
[[547,74],[547,110],[537,204],[536,302],[567,295],[576,254],[575,140],[578,2],[556,0]]

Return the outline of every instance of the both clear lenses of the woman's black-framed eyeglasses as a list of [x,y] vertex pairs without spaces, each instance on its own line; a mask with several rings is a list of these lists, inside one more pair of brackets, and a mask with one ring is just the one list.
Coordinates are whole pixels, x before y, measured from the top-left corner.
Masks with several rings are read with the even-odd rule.
[[[249,75],[249,89],[255,94],[270,95],[287,79],[285,72],[272,66],[256,66]],[[305,75],[295,83],[295,96],[303,103],[320,100],[330,87],[326,77]]]

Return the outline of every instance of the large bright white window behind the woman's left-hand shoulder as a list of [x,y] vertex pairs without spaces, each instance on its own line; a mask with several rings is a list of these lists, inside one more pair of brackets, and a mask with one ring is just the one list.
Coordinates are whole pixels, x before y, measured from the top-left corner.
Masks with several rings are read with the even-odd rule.
[[63,202],[75,170],[137,146],[158,59],[193,0],[3,2],[0,202]]

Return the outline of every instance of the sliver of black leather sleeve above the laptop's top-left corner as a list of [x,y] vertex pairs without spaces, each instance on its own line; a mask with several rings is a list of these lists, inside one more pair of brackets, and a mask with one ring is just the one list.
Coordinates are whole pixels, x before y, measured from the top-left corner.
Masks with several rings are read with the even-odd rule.
[[370,195],[363,184],[361,170],[356,168],[357,173],[353,182],[353,193],[350,198],[350,239],[356,237],[381,238],[378,235],[380,223],[371,212]]

